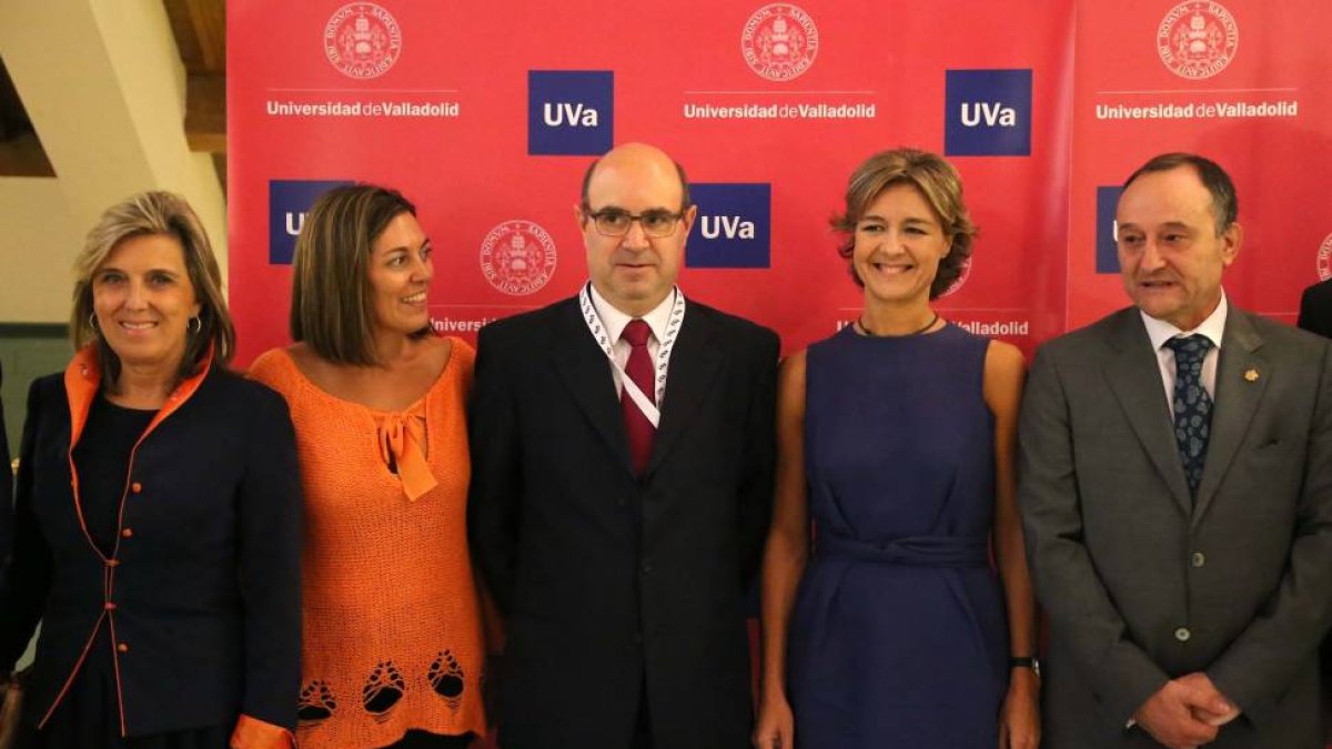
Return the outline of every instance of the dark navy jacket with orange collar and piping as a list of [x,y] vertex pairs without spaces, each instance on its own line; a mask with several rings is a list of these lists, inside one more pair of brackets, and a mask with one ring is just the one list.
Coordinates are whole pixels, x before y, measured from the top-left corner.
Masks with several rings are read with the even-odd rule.
[[132,457],[121,538],[104,558],[83,530],[69,460],[96,397],[88,353],[28,394],[0,668],[40,618],[25,709],[44,722],[85,642],[111,626],[128,648],[115,654],[128,736],[240,713],[293,730],[301,493],[286,404],[216,367],[186,381]]

